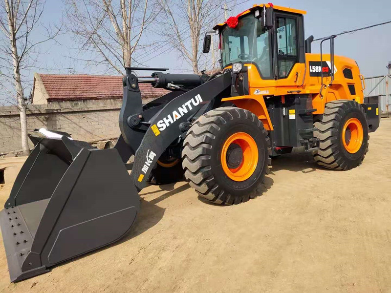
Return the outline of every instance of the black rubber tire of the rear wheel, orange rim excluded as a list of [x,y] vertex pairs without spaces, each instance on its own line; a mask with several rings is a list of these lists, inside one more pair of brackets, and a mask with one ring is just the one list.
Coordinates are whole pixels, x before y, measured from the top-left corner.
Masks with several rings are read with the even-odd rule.
[[[350,118],[356,118],[363,128],[363,141],[355,153],[343,144],[343,128]],[[315,161],[323,167],[349,170],[359,166],[368,152],[369,128],[363,107],[355,101],[336,100],[326,104],[323,115],[315,117],[314,137],[320,139],[320,148],[312,152]]]

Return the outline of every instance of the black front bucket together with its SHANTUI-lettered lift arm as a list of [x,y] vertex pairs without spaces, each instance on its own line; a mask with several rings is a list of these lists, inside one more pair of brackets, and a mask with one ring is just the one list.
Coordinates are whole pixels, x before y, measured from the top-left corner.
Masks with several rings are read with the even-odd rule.
[[[138,191],[160,155],[196,117],[230,95],[230,71],[208,80],[161,72],[137,78],[134,69],[140,68],[127,68],[123,79],[121,136],[114,148],[97,149],[58,131],[29,134],[35,148],[0,211],[12,282],[123,237],[139,209]],[[142,105],[139,83],[172,91]]]

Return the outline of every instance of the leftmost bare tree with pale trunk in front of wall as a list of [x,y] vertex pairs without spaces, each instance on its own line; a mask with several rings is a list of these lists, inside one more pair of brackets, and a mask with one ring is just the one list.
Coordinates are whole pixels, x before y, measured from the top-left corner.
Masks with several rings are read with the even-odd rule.
[[[37,40],[33,30],[40,26],[43,14],[43,1],[40,0],[1,0],[0,31],[0,76],[1,87],[15,98],[21,118],[22,151],[28,155],[27,141],[27,101],[24,99],[23,78],[28,78],[28,70],[33,67],[40,54],[40,44],[53,40],[60,32],[46,28],[47,36]],[[5,37],[5,38],[4,38]],[[23,75],[24,72],[24,75]],[[12,84],[13,88],[8,85]]]

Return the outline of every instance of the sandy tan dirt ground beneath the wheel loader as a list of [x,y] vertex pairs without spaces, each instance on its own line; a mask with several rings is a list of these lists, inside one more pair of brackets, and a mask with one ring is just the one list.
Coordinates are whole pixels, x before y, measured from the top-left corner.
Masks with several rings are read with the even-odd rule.
[[[273,159],[262,196],[237,206],[199,199],[186,182],[150,186],[122,241],[1,292],[391,293],[391,119],[370,134],[362,166]],[[24,158],[0,160],[9,195]]]

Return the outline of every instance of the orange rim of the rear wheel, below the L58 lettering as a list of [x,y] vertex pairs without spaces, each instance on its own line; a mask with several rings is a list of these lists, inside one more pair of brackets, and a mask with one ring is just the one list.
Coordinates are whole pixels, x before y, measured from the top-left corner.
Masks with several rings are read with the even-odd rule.
[[357,118],[350,118],[342,130],[342,143],[345,149],[354,154],[363,144],[364,131],[361,122]]

